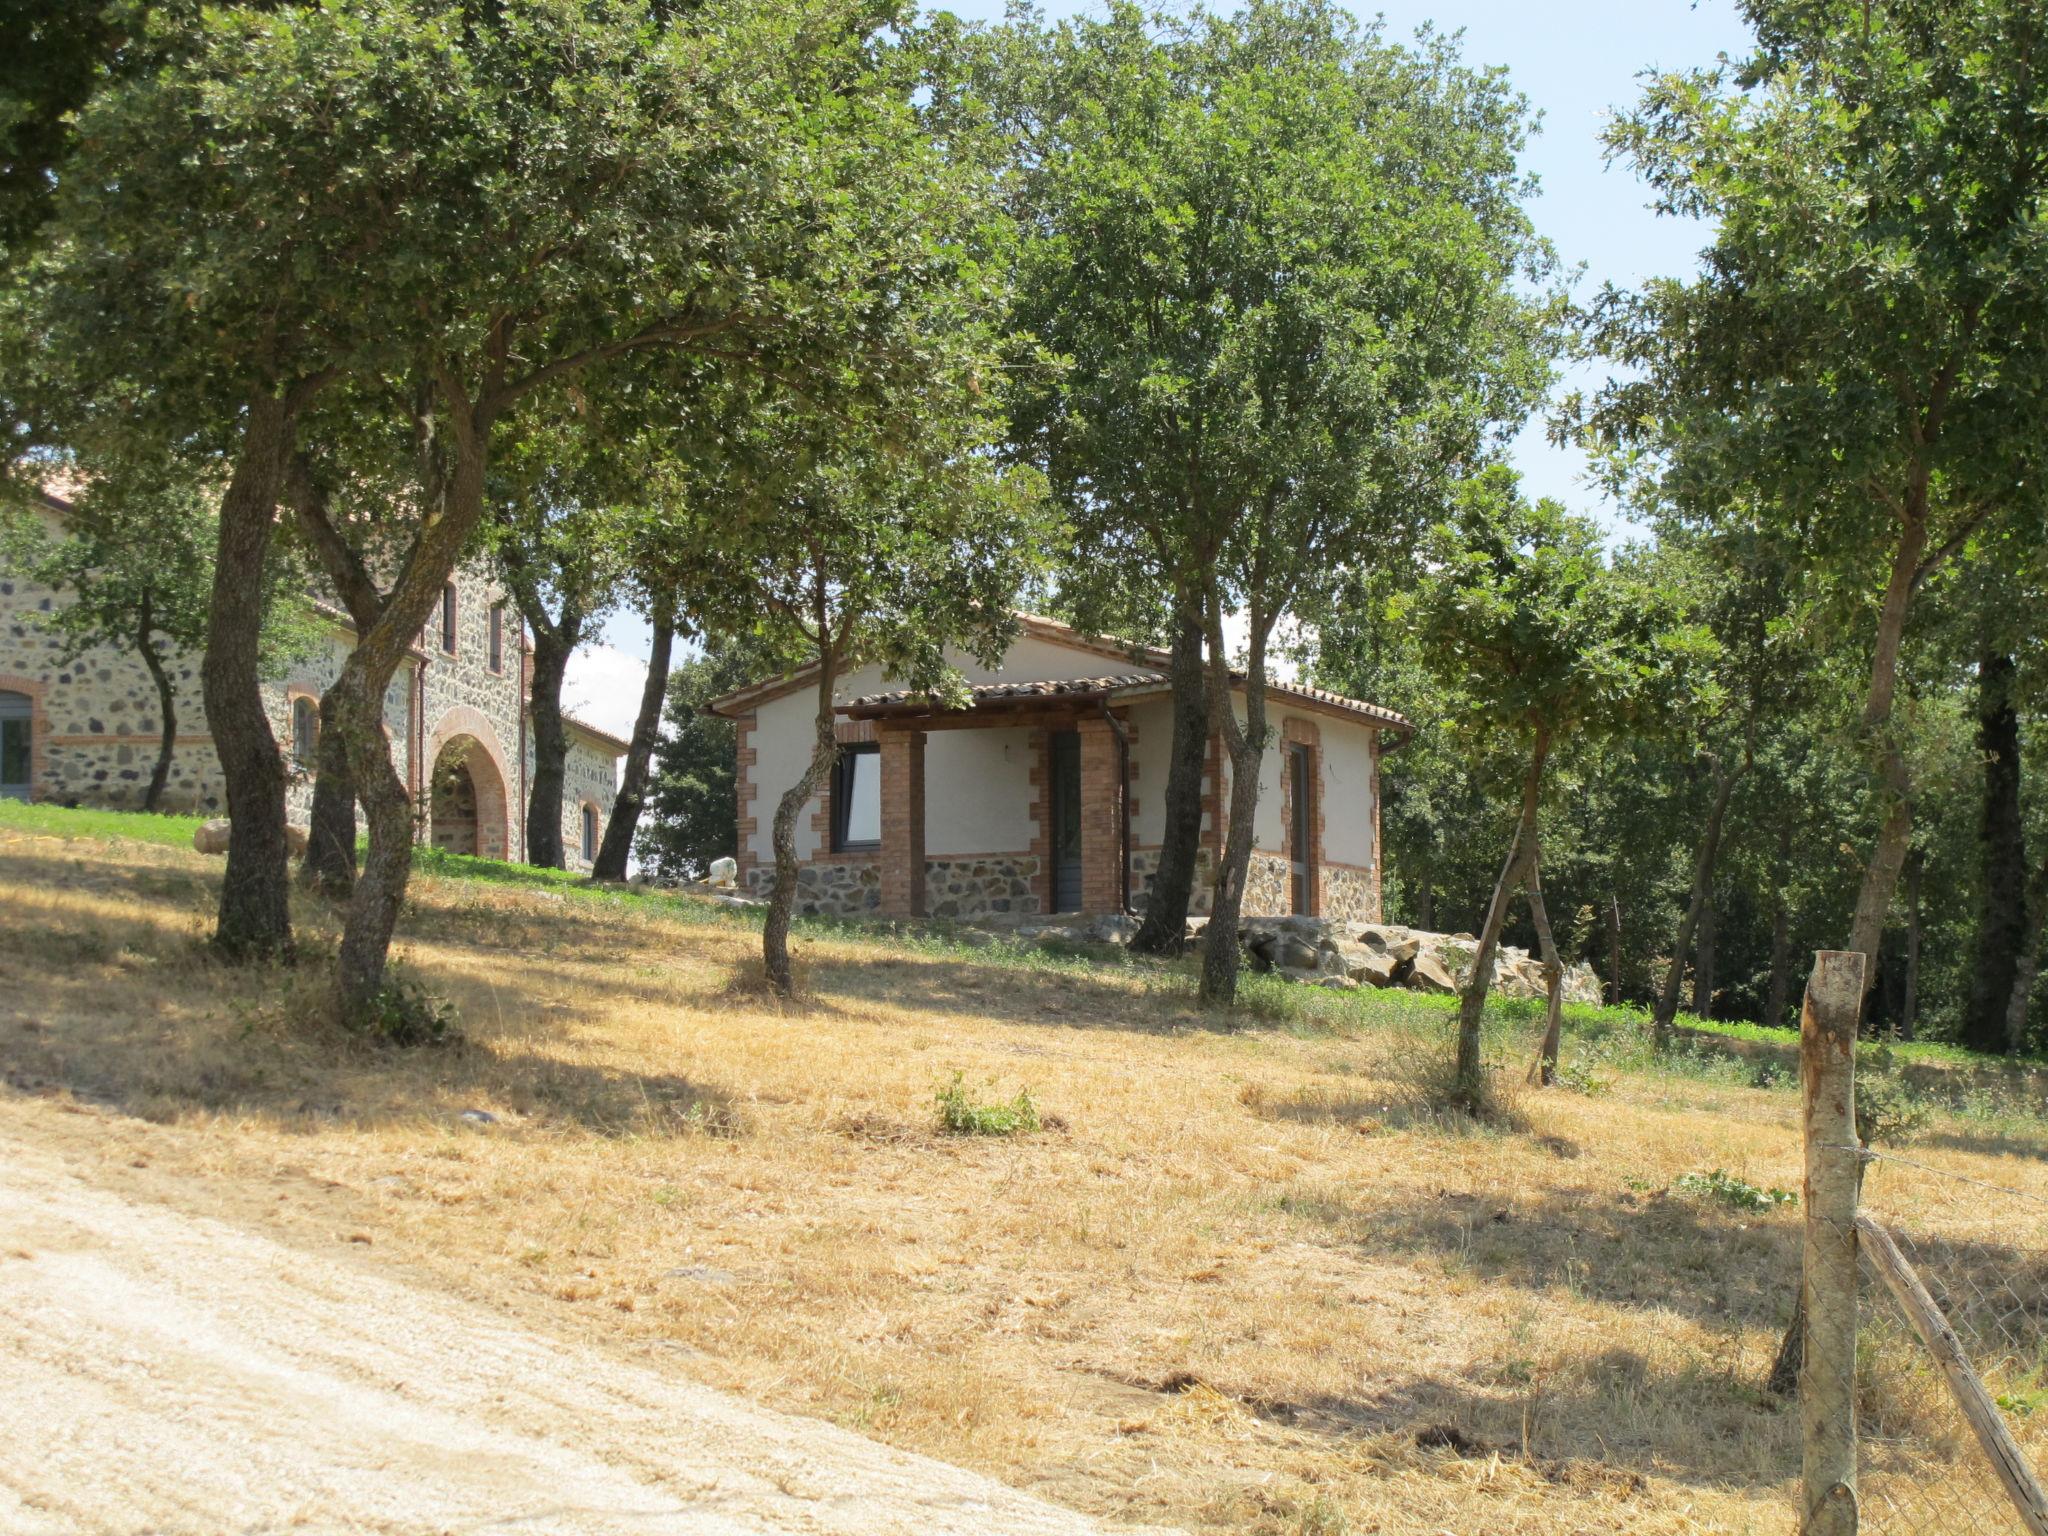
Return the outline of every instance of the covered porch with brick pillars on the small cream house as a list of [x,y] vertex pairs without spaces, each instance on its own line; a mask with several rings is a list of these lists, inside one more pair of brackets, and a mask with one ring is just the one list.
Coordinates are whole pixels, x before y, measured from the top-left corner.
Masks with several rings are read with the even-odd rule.
[[[1116,696],[1161,682],[1157,674],[987,682],[969,688],[965,707],[911,690],[842,705],[842,737],[856,739],[844,750],[829,815],[836,838],[850,825],[874,831],[881,913],[1128,911],[1133,727]],[[983,733],[981,752],[954,735],[969,731]],[[1024,801],[1022,821],[1012,801]]]

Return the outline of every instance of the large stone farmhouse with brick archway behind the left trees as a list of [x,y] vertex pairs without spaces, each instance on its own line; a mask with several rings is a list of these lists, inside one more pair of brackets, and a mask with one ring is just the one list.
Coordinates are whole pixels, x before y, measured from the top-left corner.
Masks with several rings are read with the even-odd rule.
[[[39,510],[59,528],[72,508],[45,492]],[[135,809],[160,745],[156,684],[133,649],[96,647],[63,662],[57,637],[39,623],[63,600],[63,592],[0,569],[0,797]],[[317,596],[311,602],[324,625],[317,645],[264,682],[270,727],[291,768],[287,813],[295,825],[307,823],[313,805],[319,694],[354,645],[348,614]],[[164,666],[178,709],[164,809],[223,813],[199,655],[166,647]],[[535,770],[530,666],[526,627],[508,594],[485,569],[461,569],[385,696],[391,762],[420,811],[420,842],[524,858]],[[569,721],[561,803],[569,868],[590,868],[596,856],[625,750],[618,737]]]

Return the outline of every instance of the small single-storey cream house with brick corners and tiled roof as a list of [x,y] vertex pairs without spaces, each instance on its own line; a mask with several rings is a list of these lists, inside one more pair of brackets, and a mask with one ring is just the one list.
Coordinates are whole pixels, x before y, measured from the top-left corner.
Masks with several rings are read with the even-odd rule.
[[[799,907],[1001,918],[1143,911],[1165,829],[1171,690],[1163,651],[1022,618],[999,668],[952,655],[967,709],[893,688],[879,668],[838,688],[844,743],[797,823]],[[811,752],[815,670],[711,702],[737,727],[739,879],[766,893],[772,821]],[[1243,692],[1235,692],[1243,719]],[[1247,915],[1380,918],[1380,758],[1413,727],[1356,698],[1270,684]],[[1229,762],[1210,737],[1202,868],[1223,852]]]

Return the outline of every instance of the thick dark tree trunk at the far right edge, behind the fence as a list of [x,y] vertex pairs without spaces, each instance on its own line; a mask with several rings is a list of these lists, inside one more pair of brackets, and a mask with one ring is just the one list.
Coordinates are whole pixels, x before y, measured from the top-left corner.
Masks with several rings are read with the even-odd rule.
[[1989,651],[1976,662],[1976,750],[1985,760],[1985,799],[1976,821],[1978,895],[1970,993],[1962,1042],[1972,1051],[2005,1049],[2005,1010],[2025,944],[2025,825],[2019,813],[2017,664]]

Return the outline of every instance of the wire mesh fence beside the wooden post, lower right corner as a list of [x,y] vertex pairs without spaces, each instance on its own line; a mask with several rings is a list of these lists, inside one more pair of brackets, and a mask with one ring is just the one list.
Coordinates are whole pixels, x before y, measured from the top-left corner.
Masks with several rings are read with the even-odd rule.
[[[1972,1425],[1946,1346],[1915,1325],[1917,1280],[1982,1386],[2034,1483],[2048,1481],[2048,1200],[1909,1157],[1862,1153],[1860,1206],[1905,1262],[1884,1274],[1882,1237],[1862,1243],[1858,1296],[1860,1528],[1878,1536],[2040,1536],[2025,1491],[2001,1479]],[[1907,1298],[1901,1298],[1901,1286]]]

